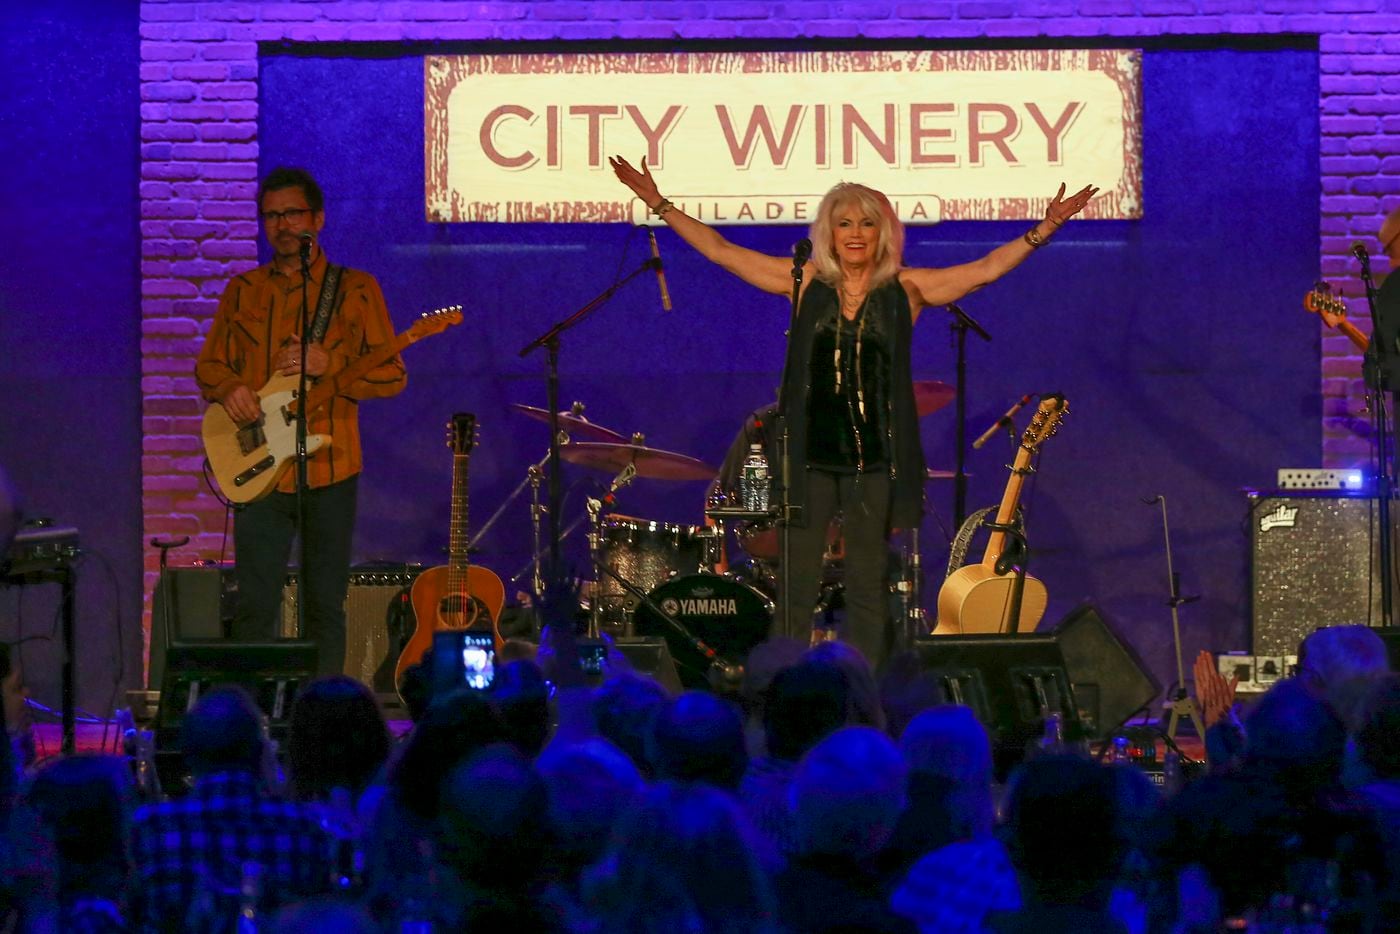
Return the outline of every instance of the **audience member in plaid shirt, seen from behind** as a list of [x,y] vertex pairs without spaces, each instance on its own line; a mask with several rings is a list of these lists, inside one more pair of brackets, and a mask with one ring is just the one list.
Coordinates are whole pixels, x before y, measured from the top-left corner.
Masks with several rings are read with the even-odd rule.
[[185,714],[189,795],[140,808],[132,822],[133,914],[144,930],[185,931],[234,917],[245,867],[262,905],[325,892],[330,839],[314,811],[269,794],[263,717],[244,690],[213,690]]

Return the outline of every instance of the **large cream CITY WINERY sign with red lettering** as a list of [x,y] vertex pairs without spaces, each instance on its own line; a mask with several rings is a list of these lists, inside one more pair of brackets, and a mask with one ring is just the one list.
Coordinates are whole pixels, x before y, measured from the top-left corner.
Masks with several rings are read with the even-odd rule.
[[608,155],[715,224],[806,224],[837,182],[906,223],[1142,216],[1141,53],[454,55],[424,62],[430,221],[641,223]]

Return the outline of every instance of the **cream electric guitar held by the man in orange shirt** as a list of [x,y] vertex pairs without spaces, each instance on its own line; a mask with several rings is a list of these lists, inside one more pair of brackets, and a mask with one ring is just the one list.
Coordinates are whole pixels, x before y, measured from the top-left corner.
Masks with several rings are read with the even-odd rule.
[[[462,321],[462,307],[438,308],[420,316],[402,335],[358,357],[339,372],[316,378],[307,391],[307,412],[315,412],[347,386],[412,343],[442,333]],[[272,493],[297,458],[297,382],[300,377],[273,377],[258,391],[262,416],[239,426],[224,406],[204,410],[204,456],[218,489],[232,503],[252,503]],[[308,434],[307,454],[330,445],[329,434]]]

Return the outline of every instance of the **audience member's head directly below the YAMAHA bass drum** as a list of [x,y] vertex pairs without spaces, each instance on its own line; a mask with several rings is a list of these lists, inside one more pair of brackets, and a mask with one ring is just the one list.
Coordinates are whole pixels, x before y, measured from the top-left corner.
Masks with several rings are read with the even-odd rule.
[[689,690],[657,713],[647,758],[658,780],[736,791],[749,765],[739,711],[715,695]]

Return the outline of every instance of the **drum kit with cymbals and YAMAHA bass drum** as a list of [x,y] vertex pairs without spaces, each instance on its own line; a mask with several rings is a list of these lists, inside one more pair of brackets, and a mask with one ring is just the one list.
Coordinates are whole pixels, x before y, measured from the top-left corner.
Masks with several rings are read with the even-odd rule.
[[[937,412],[951,402],[953,389],[937,379],[914,384],[918,416]],[[522,416],[549,423],[549,412],[536,406],[512,403]],[[774,517],[745,514],[724,507],[735,501],[729,492],[713,490],[706,515],[713,525],[680,525],[641,517],[609,513],[613,493],[634,479],[661,482],[713,482],[718,471],[693,456],[645,444],[641,434],[631,437],[589,421],[584,405],[575,402],[559,413],[560,458],[598,473],[610,473],[608,494],[589,497],[585,515],[568,525],[567,538],[588,522],[589,557],[594,580],[585,583],[584,597],[589,613],[591,636],[659,636],[666,639],[682,681],[690,686],[706,683],[711,669],[721,665],[738,669],[749,650],[767,639],[773,623],[773,594],[778,563],[778,532]],[[501,517],[505,507],[529,486],[535,553],[511,580],[533,573],[535,592],[542,592],[540,560],[547,543],[540,541],[540,485],[547,456],[532,463],[526,478],[501,503],[496,514],[477,531],[475,545]],[[930,479],[951,476],[930,471]],[[729,531],[748,560],[727,560]],[[917,536],[914,555],[906,555],[904,567],[918,569]],[[844,555],[840,529],[833,524],[827,539],[827,585],[839,588]],[[899,581],[892,585],[903,592],[906,609],[918,612],[917,584]],[[910,594],[916,601],[909,606]],[[825,601],[823,602],[829,602]],[[669,618],[669,619],[668,619]],[[710,653],[706,651],[710,650]]]

